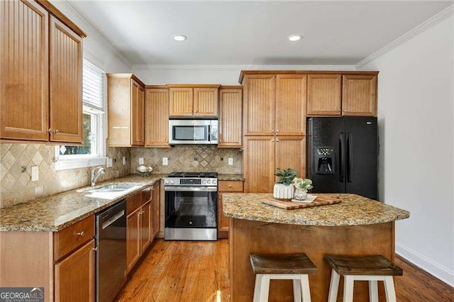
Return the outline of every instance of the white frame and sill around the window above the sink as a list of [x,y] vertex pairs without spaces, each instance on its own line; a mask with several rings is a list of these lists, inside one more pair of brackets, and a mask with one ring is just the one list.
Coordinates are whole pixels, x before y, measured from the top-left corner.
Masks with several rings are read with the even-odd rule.
[[[89,60],[85,59],[90,64],[94,65]],[[96,67],[96,65],[94,65]],[[99,67],[97,67],[99,68]],[[100,69],[100,68],[99,68]],[[101,70],[101,69],[100,69]],[[92,104],[83,102],[83,113],[94,114],[97,116],[97,127],[96,127],[96,155],[60,155],[60,147],[62,145],[55,146],[55,170],[66,170],[66,169],[77,169],[84,167],[94,167],[106,164],[106,126],[107,125],[107,114],[106,114],[106,103],[107,103],[107,77],[106,72],[102,72],[102,89],[103,89],[103,104],[102,108],[96,108]]]

